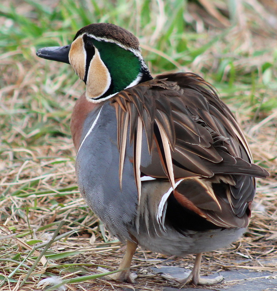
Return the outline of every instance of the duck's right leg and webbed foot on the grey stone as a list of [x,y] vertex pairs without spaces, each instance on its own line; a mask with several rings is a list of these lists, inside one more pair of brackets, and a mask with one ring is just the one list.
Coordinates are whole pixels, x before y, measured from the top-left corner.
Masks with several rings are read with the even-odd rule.
[[194,266],[189,277],[185,279],[185,284],[193,283],[194,285],[211,286],[222,282],[223,276],[217,276],[213,279],[200,278],[200,266],[201,266],[202,253],[196,254]]

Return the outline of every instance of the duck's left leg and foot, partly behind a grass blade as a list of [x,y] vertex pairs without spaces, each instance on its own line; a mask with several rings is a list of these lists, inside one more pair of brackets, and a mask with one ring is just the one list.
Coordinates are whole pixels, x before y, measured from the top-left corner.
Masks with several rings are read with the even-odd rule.
[[[137,246],[138,243],[136,241],[134,242],[127,241],[127,249],[118,268],[120,270],[123,269],[123,271],[114,273],[112,275],[108,275],[107,277],[109,279],[121,282],[135,283],[135,276],[130,274],[130,266]],[[98,267],[97,269],[100,270],[101,272],[108,272],[108,270],[101,267]]]

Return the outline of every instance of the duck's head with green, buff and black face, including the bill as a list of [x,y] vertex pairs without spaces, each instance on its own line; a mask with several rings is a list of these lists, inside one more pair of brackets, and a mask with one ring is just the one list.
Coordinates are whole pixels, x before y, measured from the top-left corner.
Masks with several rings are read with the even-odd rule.
[[72,65],[86,84],[86,98],[94,103],[152,79],[138,39],[109,23],[87,25],[76,33],[70,45],[42,48],[37,55]]

